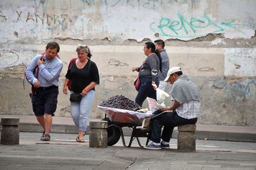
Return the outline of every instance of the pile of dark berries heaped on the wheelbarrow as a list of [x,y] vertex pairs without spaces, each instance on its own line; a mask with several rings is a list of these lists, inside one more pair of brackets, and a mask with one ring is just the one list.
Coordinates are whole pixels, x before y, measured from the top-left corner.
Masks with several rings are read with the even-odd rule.
[[99,106],[125,109],[129,111],[134,111],[140,108],[140,105],[136,104],[131,99],[124,97],[123,95],[116,95],[110,97],[107,100],[104,100],[101,104],[99,104]]

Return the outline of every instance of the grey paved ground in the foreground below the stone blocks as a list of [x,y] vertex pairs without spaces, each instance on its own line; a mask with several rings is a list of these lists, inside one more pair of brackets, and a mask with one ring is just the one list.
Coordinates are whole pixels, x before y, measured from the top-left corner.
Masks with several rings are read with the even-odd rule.
[[[88,135],[86,143],[76,143],[76,134],[52,134],[49,142],[40,141],[40,135],[22,132],[19,145],[0,144],[0,169],[256,169],[255,143],[222,141],[226,149],[205,146],[179,152],[175,145],[145,150],[136,143],[131,148],[122,143],[90,148]],[[236,150],[242,146],[247,150]]]

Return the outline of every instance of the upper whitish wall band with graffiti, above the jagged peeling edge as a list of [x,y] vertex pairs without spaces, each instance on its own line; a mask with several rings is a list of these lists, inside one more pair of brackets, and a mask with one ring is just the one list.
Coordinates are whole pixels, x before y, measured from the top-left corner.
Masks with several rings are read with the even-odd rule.
[[221,0],[1,1],[1,42],[49,38],[156,37],[191,40],[209,33],[254,35],[256,2]]

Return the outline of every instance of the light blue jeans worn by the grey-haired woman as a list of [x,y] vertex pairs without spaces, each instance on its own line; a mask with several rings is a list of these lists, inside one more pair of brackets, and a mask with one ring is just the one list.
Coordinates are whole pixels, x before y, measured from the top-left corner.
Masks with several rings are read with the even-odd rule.
[[87,121],[90,117],[94,95],[95,91],[92,89],[82,97],[80,102],[70,102],[71,116],[79,131],[86,132],[87,130]]

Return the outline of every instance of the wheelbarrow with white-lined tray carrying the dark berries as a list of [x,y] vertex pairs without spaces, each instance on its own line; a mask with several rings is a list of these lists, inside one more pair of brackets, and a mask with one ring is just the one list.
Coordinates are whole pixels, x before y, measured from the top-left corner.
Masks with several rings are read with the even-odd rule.
[[[113,146],[119,141],[120,137],[122,137],[122,143],[126,147],[131,147],[134,139],[137,139],[138,144],[143,147],[140,143],[139,137],[147,137],[147,131],[141,129],[140,127],[143,120],[151,117],[152,113],[141,113],[124,109],[102,107],[99,105],[98,107],[105,112],[105,118],[102,120],[108,121],[108,146]],[[125,143],[124,139],[124,132],[122,130],[124,127],[132,129],[132,134],[128,145]]]

